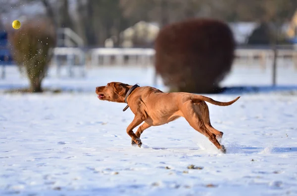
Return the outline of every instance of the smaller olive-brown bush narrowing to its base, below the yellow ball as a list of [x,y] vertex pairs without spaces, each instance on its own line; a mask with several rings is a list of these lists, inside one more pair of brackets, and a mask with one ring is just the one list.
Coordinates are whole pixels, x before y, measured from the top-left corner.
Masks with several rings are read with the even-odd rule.
[[48,20],[32,20],[10,32],[13,60],[24,70],[31,92],[42,91],[42,80],[51,59],[50,48],[55,46],[55,31]]

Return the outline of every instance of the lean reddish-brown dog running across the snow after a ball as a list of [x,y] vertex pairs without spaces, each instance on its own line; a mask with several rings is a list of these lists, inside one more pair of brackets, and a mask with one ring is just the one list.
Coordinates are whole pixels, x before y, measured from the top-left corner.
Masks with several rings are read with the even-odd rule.
[[[148,127],[184,117],[195,130],[205,135],[223,153],[226,150],[217,140],[223,136],[223,132],[211,126],[205,101],[217,106],[229,106],[240,98],[237,97],[230,102],[219,102],[202,95],[185,92],[164,93],[150,86],[138,87],[121,82],[110,82],[106,86],[96,87],[96,94],[100,100],[118,103],[125,103],[126,100],[135,115],[127,127],[132,145],[137,144],[141,147],[140,136]],[[142,122],[144,123],[134,133],[133,129]]]

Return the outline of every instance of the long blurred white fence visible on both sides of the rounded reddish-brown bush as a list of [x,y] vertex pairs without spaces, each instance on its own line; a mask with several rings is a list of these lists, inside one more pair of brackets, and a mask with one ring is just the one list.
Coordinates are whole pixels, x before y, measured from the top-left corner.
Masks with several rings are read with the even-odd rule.
[[[108,65],[153,65],[155,50],[152,48],[96,48],[89,51],[91,66]],[[237,66],[259,66],[266,69],[272,64],[274,51],[272,49],[236,49],[235,62]],[[281,65],[293,64],[297,69],[297,50],[279,49],[278,62]]]

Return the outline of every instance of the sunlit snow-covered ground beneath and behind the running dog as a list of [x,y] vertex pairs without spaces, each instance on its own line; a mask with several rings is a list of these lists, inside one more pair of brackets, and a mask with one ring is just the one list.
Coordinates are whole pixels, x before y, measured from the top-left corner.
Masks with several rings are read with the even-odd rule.
[[[132,112],[99,101],[95,87],[113,80],[152,85],[152,75],[152,69],[104,68],[88,70],[87,78],[45,80],[46,87],[73,92],[0,93],[0,196],[297,196],[296,93],[208,104],[227,154],[182,118],[150,127],[142,148],[132,147],[126,133]],[[270,76],[237,68],[223,83],[268,85]],[[297,72],[281,70],[278,82],[297,85]],[[0,80],[1,91],[25,86],[13,67]],[[158,87],[165,89],[160,80]]]

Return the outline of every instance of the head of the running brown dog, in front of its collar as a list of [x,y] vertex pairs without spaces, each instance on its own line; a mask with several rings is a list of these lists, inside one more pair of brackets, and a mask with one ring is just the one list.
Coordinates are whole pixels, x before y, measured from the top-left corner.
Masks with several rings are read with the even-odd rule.
[[121,82],[109,82],[106,86],[96,87],[98,98],[103,101],[125,102],[125,96],[129,90],[129,84]]

